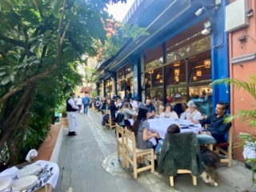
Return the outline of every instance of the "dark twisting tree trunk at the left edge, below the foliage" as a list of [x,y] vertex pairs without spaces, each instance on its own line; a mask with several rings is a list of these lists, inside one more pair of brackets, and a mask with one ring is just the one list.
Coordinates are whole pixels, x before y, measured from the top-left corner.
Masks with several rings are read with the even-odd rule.
[[[4,111],[2,111],[0,122],[0,151],[2,151],[4,144],[8,146],[10,153],[9,165],[14,166],[18,163],[18,147],[21,146],[24,135],[26,134],[26,127],[29,118],[29,109],[34,101],[35,85],[26,86],[23,91],[15,95],[4,104]],[[21,128],[21,134],[18,138],[17,131]]]

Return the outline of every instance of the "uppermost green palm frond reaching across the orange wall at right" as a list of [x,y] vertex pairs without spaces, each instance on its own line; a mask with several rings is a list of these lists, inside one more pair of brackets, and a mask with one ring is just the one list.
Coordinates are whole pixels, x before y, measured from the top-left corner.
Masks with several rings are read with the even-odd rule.
[[225,84],[226,86],[230,86],[230,84],[232,84],[234,85],[234,89],[243,89],[244,91],[250,93],[254,98],[256,98],[256,78],[254,76],[250,76],[250,80],[250,82],[244,82],[238,79],[221,78],[210,83],[210,85],[217,86],[220,84]]

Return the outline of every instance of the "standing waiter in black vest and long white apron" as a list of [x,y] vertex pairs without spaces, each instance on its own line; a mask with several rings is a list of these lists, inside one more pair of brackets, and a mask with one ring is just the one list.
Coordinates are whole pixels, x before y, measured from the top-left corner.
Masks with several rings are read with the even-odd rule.
[[74,93],[70,94],[70,98],[66,100],[66,112],[67,112],[67,119],[69,121],[70,132],[69,135],[77,135],[77,113],[78,106],[75,105],[74,102]]

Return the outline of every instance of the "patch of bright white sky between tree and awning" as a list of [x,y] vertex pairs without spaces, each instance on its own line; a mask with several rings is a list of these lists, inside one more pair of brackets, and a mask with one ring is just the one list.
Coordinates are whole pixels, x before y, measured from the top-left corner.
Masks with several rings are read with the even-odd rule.
[[117,4],[108,6],[109,14],[113,14],[114,18],[119,22],[122,22],[122,19],[125,18],[128,10],[134,4],[135,0],[127,0],[126,4],[118,2]]

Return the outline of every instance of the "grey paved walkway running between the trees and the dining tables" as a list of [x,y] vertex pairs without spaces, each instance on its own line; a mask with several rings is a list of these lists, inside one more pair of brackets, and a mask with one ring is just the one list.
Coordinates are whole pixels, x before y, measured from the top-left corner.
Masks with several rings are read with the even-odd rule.
[[123,169],[116,155],[114,130],[105,130],[102,117],[90,110],[88,115],[78,114],[78,135],[68,137],[63,130],[62,146],[58,158],[60,177],[54,192],[125,192],[125,191],[256,191],[251,184],[251,172],[240,162],[233,162],[232,168],[218,169],[221,183],[208,186],[198,179],[198,186],[192,185],[189,174],[178,174],[174,187],[169,178],[144,171],[138,179],[132,178],[132,169]]

